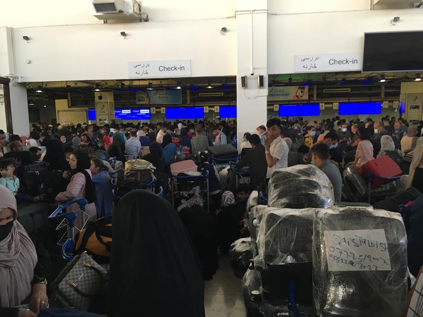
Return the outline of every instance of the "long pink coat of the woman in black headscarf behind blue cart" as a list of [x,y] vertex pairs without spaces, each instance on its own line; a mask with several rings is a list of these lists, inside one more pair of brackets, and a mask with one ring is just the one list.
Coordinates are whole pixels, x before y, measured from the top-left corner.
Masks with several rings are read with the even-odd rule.
[[[92,177],[90,170],[85,171]],[[85,198],[85,175],[82,173],[76,173],[72,176],[66,191],[56,195],[56,201],[68,202],[79,198]],[[72,204],[66,208],[66,212],[76,211],[78,209],[78,204]],[[90,221],[95,221],[97,219],[96,206],[93,202],[85,205],[85,213],[90,216]],[[79,227],[81,223],[78,218],[76,220],[76,225]]]

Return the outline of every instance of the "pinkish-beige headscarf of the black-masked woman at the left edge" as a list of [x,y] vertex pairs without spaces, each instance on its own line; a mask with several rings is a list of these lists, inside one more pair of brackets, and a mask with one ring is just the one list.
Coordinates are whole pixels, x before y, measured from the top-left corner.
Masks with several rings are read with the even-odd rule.
[[15,307],[31,293],[31,281],[37,264],[35,246],[24,227],[16,220],[16,199],[0,185],[0,210],[13,211],[10,234],[0,241],[0,307]]

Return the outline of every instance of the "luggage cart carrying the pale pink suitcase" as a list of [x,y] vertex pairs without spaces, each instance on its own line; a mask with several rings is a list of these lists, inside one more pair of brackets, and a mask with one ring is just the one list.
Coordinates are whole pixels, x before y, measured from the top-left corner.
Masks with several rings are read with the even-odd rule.
[[[170,190],[172,193],[172,204],[175,206],[176,195],[188,195],[194,187],[200,187],[200,195],[207,203],[207,211],[210,213],[210,196],[209,196],[209,171],[204,175],[198,176],[170,176]],[[177,206],[175,206],[177,208]]]

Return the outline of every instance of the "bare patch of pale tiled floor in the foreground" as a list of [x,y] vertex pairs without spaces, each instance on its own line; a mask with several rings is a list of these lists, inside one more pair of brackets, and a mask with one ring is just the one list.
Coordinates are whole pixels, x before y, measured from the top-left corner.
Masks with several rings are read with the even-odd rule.
[[245,317],[241,280],[235,277],[229,257],[219,258],[217,273],[205,284],[206,317]]

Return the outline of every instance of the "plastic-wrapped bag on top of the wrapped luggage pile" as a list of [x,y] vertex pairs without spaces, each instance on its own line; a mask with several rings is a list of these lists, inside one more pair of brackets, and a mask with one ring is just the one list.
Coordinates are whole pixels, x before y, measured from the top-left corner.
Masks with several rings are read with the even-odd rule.
[[335,203],[333,186],[314,165],[295,165],[272,173],[268,206],[279,208],[329,208]]

